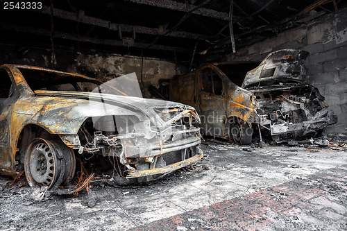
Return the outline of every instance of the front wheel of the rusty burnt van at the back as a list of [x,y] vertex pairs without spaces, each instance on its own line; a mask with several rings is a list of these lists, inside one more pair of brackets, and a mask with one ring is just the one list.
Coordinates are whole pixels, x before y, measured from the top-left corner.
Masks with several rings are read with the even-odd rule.
[[232,123],[231,135],[236,144],[251,144],[253,129],[244,121]]

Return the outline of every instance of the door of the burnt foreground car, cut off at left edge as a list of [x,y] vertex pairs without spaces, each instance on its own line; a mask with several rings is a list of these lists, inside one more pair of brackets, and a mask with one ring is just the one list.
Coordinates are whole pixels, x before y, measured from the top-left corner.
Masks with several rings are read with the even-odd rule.
[[15,97],[15,85],[6,69],[0,69],[0,168],[10,169],[11,116]]

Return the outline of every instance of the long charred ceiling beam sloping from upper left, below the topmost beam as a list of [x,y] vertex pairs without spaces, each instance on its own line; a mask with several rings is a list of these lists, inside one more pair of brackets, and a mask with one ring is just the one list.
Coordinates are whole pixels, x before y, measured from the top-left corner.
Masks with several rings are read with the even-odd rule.
[[[42,6],[41,10],[34,10],[35,12],[40,12],[44,15],[50,15],[51,12],[49,10],[49,7]],[[199,40],[201,38],[207,37],[206,35],[200,35],[195,33],[189,33],[185,31],[171,31],[169,33],[168,30],[160,31],[159,28],[149,28],[145,26],[132,26],[132,25],[126,25],[126,24],[115,24],[113,22],[110,22],[105,19],[99,19],[96,17],[90,17],[86,16],[84,14],[76,14],[75,12],[69,12],[66,10],[60,10],[55,8],[53,10],[54,17],[58,17],[60,19],[67,19],[83,24],[88,24],[92,26],[99,26],[103,28],[108,28],[110,31],[125,31],[125,32],[131,32],[133,33],[140,33],[140,34],[146,34],[146,35],[163,35],[167,37],[183,37],[186,39],[192,39],[192,40]],[[167,33],[167,34],[165,34]]]

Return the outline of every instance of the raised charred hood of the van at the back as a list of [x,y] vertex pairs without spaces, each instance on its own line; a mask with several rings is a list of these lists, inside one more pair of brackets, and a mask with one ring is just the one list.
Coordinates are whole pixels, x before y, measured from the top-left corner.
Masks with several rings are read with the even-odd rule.
[[304,62],[309,53],[294,49],[284,49],[269,53],[260,65],[248,71],[242,87],[250,89],[260,85],[276,83],[303,83]]

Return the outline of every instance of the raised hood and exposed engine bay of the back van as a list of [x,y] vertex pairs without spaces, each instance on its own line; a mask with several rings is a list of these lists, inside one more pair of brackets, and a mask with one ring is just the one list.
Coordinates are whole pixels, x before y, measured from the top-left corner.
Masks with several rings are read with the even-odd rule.
[[265,117],[261,125],[274,142],[320,135],[337,117],[319,90],[305,83],[306,51],[285,49],[266,56],[248,71],[242,87],[256,96],[257,112]]

